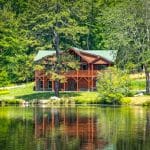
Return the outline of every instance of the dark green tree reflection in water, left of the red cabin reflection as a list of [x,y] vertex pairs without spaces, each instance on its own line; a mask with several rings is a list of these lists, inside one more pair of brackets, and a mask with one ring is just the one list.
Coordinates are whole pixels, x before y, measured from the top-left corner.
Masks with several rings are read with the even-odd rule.
[[32,129],[32,120],[22,120],[22,118],[0,119],[0,149],[32,150],[31,147],[35,145]]

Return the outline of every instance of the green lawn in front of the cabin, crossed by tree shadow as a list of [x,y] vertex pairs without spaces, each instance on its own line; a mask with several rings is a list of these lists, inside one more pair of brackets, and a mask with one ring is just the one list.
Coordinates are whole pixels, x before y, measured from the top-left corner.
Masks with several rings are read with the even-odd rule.
[[[0,95],[0,100],[11,103],[18,103],[25,101],[34,100],[47,100],[51,96],[54,96],[54,92],[37,92],[33,91],[33,83],[26,84],[22,87],[9,89],[9,92],[5,95]],[[60,98],[68,99],[72,98],[78,104],[91,104],[96,103],[98,93],[97,92],[60,92]]]

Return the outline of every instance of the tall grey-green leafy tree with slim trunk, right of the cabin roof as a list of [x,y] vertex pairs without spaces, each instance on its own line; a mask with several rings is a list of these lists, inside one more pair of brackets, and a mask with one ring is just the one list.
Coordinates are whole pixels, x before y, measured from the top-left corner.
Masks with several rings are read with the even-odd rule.
[[[111,6],[111,7],[110,7]],[[101,21],[107,47],[118,49],[117,63],[121,67],[132,63],[144,66],[146,92],[150,93],[150,2],[148,0],[115,1],[105,7]]]

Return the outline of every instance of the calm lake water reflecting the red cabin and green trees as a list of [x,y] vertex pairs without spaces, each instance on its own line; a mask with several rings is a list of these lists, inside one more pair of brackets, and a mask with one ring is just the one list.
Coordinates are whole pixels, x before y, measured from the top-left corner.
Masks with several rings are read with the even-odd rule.
[[0,107],[0,150],[150,150],[150,108]]

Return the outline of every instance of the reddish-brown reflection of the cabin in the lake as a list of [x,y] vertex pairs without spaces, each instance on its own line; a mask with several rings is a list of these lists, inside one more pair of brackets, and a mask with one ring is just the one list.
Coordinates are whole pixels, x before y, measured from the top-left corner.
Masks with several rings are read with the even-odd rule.
[[[68,113],[69,111],[69,113]],[[46,149],[103,149],[107,142],[97,137],[96,116],[78,109],[35,110],[35,137],[44,138]]]

